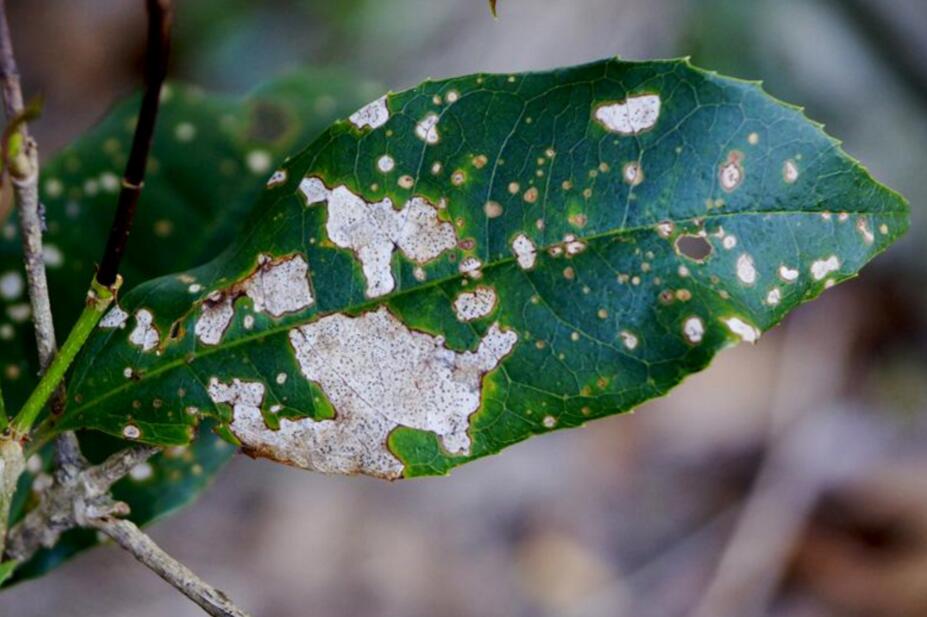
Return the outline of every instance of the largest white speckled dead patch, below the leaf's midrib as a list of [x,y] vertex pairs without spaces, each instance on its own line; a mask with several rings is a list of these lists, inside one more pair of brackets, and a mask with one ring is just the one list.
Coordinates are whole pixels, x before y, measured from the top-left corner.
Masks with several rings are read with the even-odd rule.
[[398,478],[403,465],[387,446],[398,427],[432,431],[452,454],[469,452],[483,376],[517,340],[494,324],[476,351],[456,352],[384,308],[330,315],[291,330],[290,342],[303,376],[332,403],[334,420],[281,418],[274,431],[261,415],[264,384],[213,379],[209,395],[232,406],[230,428],[253,454],[326,473]]

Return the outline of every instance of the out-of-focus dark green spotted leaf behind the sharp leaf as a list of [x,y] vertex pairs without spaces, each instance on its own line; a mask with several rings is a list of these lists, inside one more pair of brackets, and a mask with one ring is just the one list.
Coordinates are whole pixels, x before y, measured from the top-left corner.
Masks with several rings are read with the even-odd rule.
[[[246,97],[168,86],[139,220],[123,267],[127,280],[140,282],[190,267],[226,245],[239,233],[242,215],[263,190],[267,169],[375,91],[372,84],[358,84],[330,71],[295,72]],[[49,285],[59,332],[67,332],[83,306],[93,264],[109,230],[137,110],[137,97],[119,103],[43,168]],[[191,241],[194,228],[197,239]],[[28,304],[19,239],[12,223],[4,230],[0,366],[5,367],[4,389],[15,406],[36,383],[35,343],[31,321],[25,319]],[[82,433],[80,439],[94,462],[127,445],[102,433]],[[191,447],[170,450],[141,466],[119,482],[114,493],[130,504],[133,520],[148,523],[193,499],[233,452],[211,431],[203,431]],[[34,460],[23,478],[14,516],[29,507],[33,481],[40,469],[49,468],[51,449],[42,457],[43,462]],[[37,485],[41,484],[40,480]],[[70,532],[54,549],[20,567],[17,579],[41,574],[95,543],[93,532]]]

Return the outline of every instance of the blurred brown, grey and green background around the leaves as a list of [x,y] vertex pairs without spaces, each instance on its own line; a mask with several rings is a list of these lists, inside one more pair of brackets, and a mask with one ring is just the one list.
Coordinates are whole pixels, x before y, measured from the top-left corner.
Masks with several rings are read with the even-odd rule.
[[[10,0],[48,154],[138,82],[140,0]],[[424,77],[692,55],[807,106],[912,202],[909,236],[755,347],[632,416],[450,478],[243,457],[151,533],[255,615],[927,616],[925,0],[177,0],[175,78]],[[113,547],[0,615],[196,616]]]

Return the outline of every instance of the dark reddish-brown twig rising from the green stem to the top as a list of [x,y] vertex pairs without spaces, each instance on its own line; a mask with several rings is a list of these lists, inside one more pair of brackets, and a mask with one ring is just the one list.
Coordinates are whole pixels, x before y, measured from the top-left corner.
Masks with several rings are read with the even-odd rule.
[[161,86],[167,75],[173,9],[169,0],[146,0],[146,5],[148,7],[148,49],[145,52],[145,94],[142,97],[142,106],[135,125],[132,151],[129,153],[129,161],[126,163],[125,175],[122,179],[119,205],[116,208],[113,226],[110,228],[103,259],[100,260],[100,268],[97,270],[97,282],[105,287],[111,287],[116,282],[119,264],[126,250],[129,233],[132,231],[132,221],[135,218],[138,198],[145,181],[145,167],[148,163],[148,152],[151,149],[151,138],[158,116]]

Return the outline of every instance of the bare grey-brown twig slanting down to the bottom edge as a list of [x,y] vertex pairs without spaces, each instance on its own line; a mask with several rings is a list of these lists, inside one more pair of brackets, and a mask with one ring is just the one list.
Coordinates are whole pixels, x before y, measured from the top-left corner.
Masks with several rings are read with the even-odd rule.
[[200,579],[188,567],[164,552],[135,523],[104,517],[91,524],[213,617],[249,617],[225,593]]

